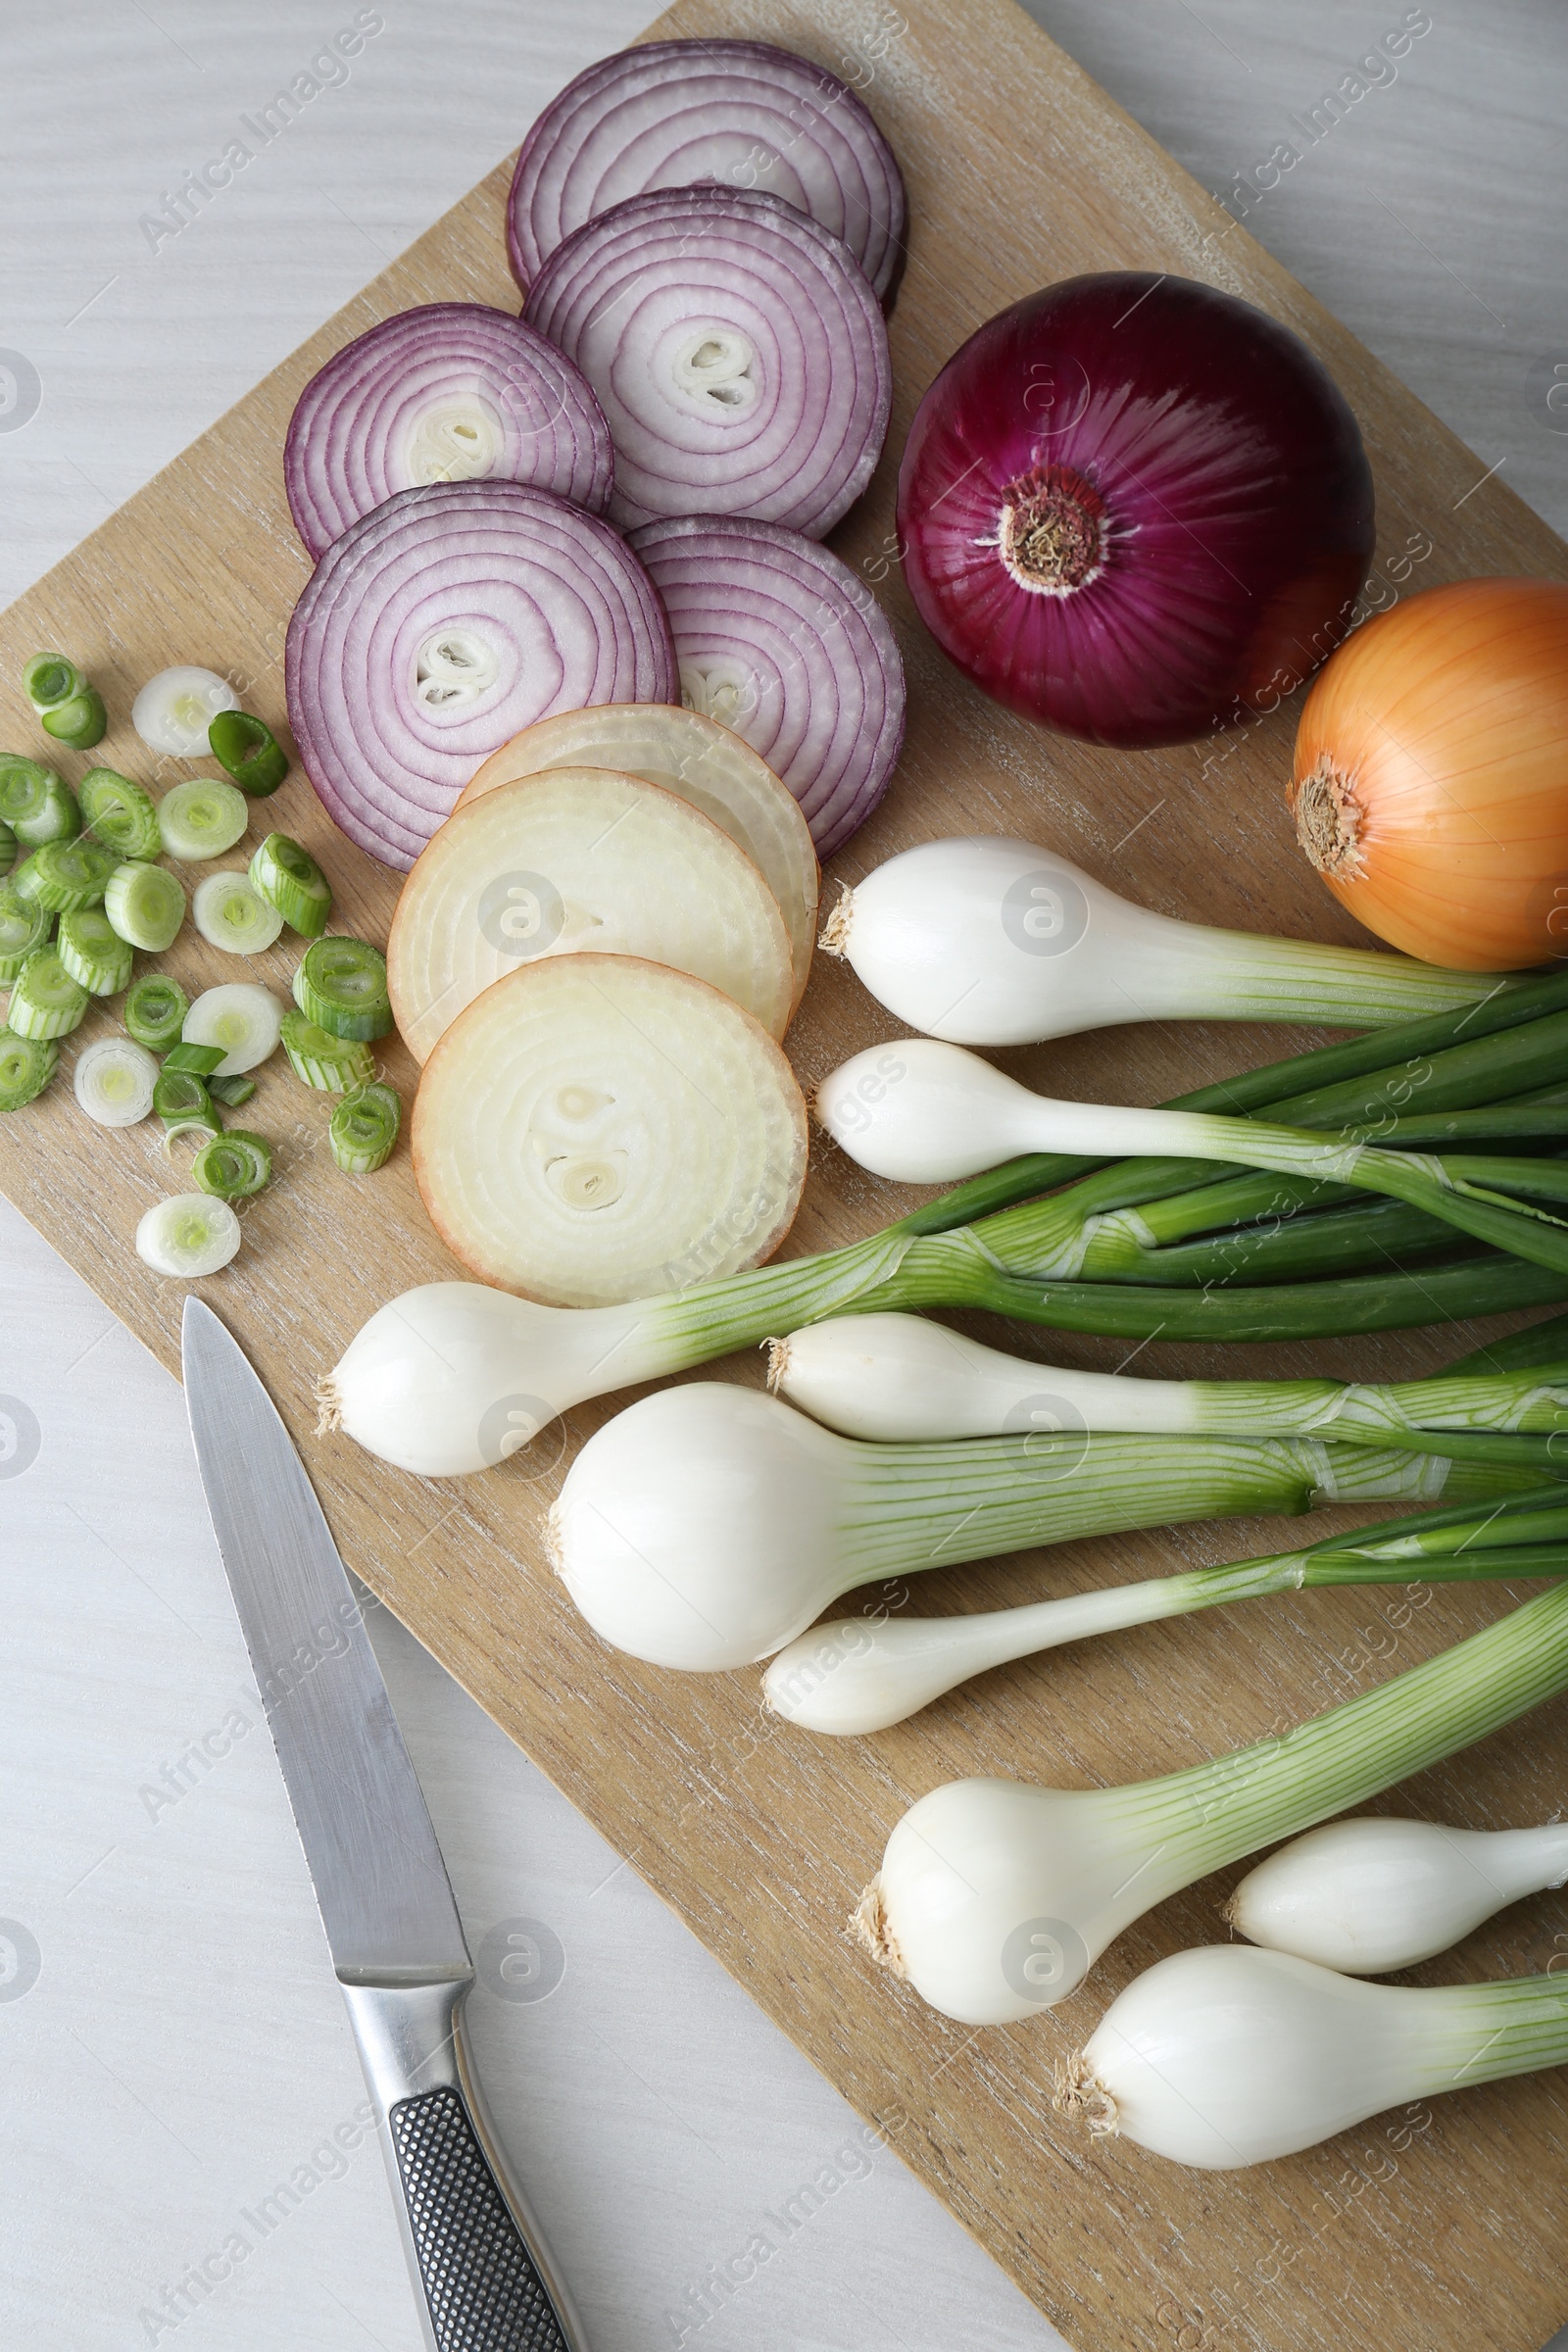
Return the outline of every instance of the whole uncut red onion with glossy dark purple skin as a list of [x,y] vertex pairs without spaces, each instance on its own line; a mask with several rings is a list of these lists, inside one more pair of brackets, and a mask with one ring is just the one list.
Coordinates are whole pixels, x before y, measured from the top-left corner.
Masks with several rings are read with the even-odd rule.
[[1373,475],[1321,362],[1185,278],[1067,278],[987,320],[898,473],[914,607],[985,694],[1145,750],[1272,710],[1345,637]]

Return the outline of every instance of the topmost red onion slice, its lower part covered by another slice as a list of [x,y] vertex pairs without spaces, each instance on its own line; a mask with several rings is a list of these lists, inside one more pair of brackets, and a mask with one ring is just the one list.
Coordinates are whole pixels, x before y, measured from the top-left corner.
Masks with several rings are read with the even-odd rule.
[[764,40],[651,40],[599,59],[522,141],[505,214],[517,285],[583,221],[649,188],[762,188],[809,212],[886,301],[903,174],[849,82]]

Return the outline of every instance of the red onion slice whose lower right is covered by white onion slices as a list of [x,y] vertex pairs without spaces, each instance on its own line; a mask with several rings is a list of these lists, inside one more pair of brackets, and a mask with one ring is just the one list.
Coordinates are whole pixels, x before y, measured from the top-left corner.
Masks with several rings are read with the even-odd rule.
[[675,647],[618,532],[524,482],[404,489],[294,607],[289,727],[343,833],[407,870],[480,760],[534,720],[668,703]]

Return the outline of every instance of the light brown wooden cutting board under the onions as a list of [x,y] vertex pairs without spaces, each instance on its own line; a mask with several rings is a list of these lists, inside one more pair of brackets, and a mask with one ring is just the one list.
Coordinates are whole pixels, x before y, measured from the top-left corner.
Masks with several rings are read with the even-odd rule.
[[[1568,576],[1568,550],[1486,477],[1422,405],[1328,318],[1009,0],[682,0],[656,35],[748,33],[837,68],[867,96],[910,183],[910,263],[891,320],[886,459],[835,546],[884,597],[910,666],[903,767],[877,818],[835,863],[856,880],[910,842],[1020,833],[1079,858],[1171,915],[1316,938],[1354,927],[1300,861],[1284,816],[1293,710],[1208,746],[1112,755],[1039,734],[973,694],[912,616],[893,534],[893,477],[910,414],[954,346],[992,310],[1086,268],[1164,268],[1241,294],[1295,327],[1352,400],[1378,473],[1368,607],[1472,572]],[[284,720],[282,640],[306,560],[280,482],[282,433],[322,360],[418,301],[517,308],[501,219],[508,167],[456,205],[357,301],[0,623],[0,741],[38,748],[14,680],[40,644],[66,647],[106,689],[115,729],[94,760],[169,783],[129,729],[134,689],[169,661],[228,670]],[[66,771],[87,764],[68,757]],[[343,929],[386,938],[397,880],[343,842],[296,771],[256,830],[296,833],[336,884]],[[830,875],[832,882],[832,875]],[[197,938],[172,960],[195,993],[233,978]],[[259,960],[287,993],[294,957]],[[110,1028],[94,1014],[80,1040]],[[893,1023],[844,967],[820,964],[790,1035],[806,1084]],[[1279,1030],[1117,1030],[1004,1056],[1060,1094],[1159,1101],[1274,1058]],[[400,1049],[388,1075],[411,1091]],[[788,2034],[983,2239],[1081,2352],[1535,2352],[1568,2317],[1568,2100],[1563,2077],[1472,2091],[1248,2173],[1185,2173],[1135,2147],[1091,2147],[1051,2112],[1056,2060],[1128,1976],[1215,1940],[1237,1872],[1161,1905],[1058,2011],[969,2032],[877,1976],[844,1919],[905,1806],[959,1773],[1065,1785],[1190,1764],[1312,1715],[1458,1639],[1502,1592],[1312,1592],[1060,1653],[992,1675],[914,1724],[823,1743],[759,1715],[757,1677],[684,1679],[609,1653],[541,1557],[541,1515],[571,1451],[611,1406],[571,1414],[505,1470],[468,1482],[404,1477],[346,1439],[313,1435],[310,1388],[353,1331],[451,1261],[421,1211],[407,1152],[343,1178],[327,1103],[277,1063],[247,1120],[280,1145],[247,1242],[200,1284],[263,1371],[350,1564],[635,1860]],[[179,1178],[150,1124],[89,1129],[68,1077],[0,1122],[0,1185],[108,1305],[179,1371],[183,1289],[132,1251],[141,1209]],[[907,1195],[818,1150],[790,1240],[811,1251],[898,1214]],[[976,1324],[976,1329],[983,1329]],[[1001,1336],[992,1331],[990,1336]],[[1006,1334],[1020,1345],[1020,1336]],[[1319,1348],[1161,1348],[1150,1374],[1338,1371],[1406,1376],[1476,1334],[1392,1334]],[[1095,1341],[1023,1345],[1110,1367]],[[738,1359],[719,1376],[759,1381]],[[621,1404],[625,1399],[616,1399]],[[1244,1557],[1284,1543],[1269,1524],[1175,1529],[933,1573],[917,1609],[999,1606],[1041,1592]],[[1472,1825],[1561,1809],[1568,1703],[1401,1790],[1401,1809]],[[1540,1896],[1420,1971],[1427,1980],[1544,1969],[1568,1952],[1568,1903]],[[649,2314],[654,2324],[654,2314]]]

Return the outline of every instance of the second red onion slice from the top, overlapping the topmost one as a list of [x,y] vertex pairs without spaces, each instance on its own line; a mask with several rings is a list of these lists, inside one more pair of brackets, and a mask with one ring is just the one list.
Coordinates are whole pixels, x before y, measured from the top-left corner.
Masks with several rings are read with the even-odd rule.
[[823,539],[872,477],[882,310],[853,254],[778,195],[632,195],[555,247],[524,318],[599,395],[625,529],[757,515]]

